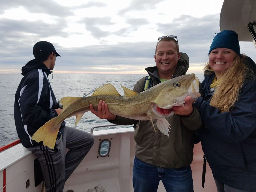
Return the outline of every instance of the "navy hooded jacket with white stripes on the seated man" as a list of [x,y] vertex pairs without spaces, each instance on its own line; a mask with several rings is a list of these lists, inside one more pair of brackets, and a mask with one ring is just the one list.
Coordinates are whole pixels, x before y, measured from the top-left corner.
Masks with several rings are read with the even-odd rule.
[[[57,116],[59,108],[48,75],[50,70],[33,59],[22,67],[24,77],[18,86],[14,102],[14,120],[18,137],[24,147],[42,145],[31,140],[32,135],[47,121]],[[61,134],[65,122],[61,124]]]

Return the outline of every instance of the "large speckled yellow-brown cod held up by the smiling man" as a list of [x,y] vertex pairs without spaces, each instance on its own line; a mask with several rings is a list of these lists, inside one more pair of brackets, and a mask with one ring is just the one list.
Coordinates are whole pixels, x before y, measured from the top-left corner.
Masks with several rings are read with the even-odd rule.
[[124,96],[121,96],[115,87],[108,83],[96,89],[92,96],[61,98],[60,103],[63,105],[61,114],[40,127],[32,139],[37,142],[43,141],[44,146],[53,149],[61,122],[75,115],[76,126],[83,114],[90,111],[90,104],[93,104],[95,109],[100,100],[105,101],[109,111],[115,115],[130,119],[150,120],[153,127],[153,119],[157,119],[157,128],[169,136],[170,124],[165,117],[174,114],[171,108],[184,106],[186,96],[192,98],[200,96],[199,80],[193,73],[159,83],[141,93],[124,86],[122,88]]

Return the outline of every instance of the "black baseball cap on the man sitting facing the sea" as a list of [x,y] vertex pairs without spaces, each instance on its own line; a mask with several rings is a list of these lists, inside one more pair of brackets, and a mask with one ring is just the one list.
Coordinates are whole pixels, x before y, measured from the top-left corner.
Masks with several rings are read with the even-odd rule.
[[33,55],[39,55],[46,52],[55,52],[56,57],[60,56],[56,52],[53,44],[48,41],[39,41],[33,47]]

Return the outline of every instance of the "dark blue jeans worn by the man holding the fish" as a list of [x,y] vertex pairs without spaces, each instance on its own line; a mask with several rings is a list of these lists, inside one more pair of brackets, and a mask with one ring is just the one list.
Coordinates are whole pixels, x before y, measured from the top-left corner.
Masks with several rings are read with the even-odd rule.
[[190,166],[179,169],[157,167],[135,156],[132,178],[134,192],[156,192],[160,180],[167,192],[194,191]]

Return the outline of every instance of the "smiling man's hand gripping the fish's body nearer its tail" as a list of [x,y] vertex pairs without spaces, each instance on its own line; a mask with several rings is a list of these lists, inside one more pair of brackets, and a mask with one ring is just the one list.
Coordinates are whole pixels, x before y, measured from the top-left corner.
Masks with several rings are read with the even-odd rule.
[[108,110],[108,105],[105,103],[105,101],[100,100],[98,104],[98,110],[93,109],[93,105],[90,104],[91,112],[98,116],[100,119],[108,119],[108,120],[115,120],[116,115],[112,114]]

